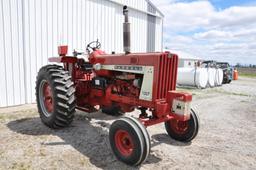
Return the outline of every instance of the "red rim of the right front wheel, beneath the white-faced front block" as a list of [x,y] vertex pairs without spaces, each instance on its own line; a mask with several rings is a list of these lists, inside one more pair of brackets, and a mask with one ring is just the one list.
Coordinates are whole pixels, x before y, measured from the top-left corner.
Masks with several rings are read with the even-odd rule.
[[180,121],[176,119],[170,120],[170,127],[177,134],[185,134],[189,128],[188,121]]

